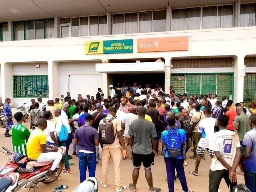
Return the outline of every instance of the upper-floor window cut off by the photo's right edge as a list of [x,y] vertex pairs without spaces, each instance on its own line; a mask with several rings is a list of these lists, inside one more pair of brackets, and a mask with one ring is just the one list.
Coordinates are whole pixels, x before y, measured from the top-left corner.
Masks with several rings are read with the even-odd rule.
[[240,27],[255,26],[256,4],[241,4]]

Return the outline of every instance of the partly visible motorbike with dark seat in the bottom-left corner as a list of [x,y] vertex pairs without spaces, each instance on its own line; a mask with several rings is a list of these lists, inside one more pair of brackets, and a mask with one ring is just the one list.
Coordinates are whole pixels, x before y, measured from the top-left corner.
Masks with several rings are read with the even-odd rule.
[[17,186],[18,173],[9,173],[6,174],[4,177],[0,178],[0,191],[1,192],[12,192],[14,188]]

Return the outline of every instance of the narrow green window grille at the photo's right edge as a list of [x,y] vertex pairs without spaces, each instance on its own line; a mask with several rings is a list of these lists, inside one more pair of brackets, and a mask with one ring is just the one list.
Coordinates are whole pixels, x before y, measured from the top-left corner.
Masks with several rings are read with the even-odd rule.
[[251,102],[256,97],[256,73],[246,73],[244,77],[244,101]]

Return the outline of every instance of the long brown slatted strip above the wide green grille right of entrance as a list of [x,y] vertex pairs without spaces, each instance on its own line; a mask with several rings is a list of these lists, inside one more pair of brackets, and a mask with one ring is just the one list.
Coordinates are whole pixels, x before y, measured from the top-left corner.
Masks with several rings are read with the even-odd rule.
[[234,67],[234,59],[232,57],[226,58],[186,58],[173,59],[173,68],[220,68],[220,67]]

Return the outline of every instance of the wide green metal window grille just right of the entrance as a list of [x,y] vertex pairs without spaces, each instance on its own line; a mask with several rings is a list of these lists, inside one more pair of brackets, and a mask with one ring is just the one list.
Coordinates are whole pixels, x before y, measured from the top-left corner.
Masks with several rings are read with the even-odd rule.
[[217,94],[233,97],[233,73],[171,74],[176,94]]

